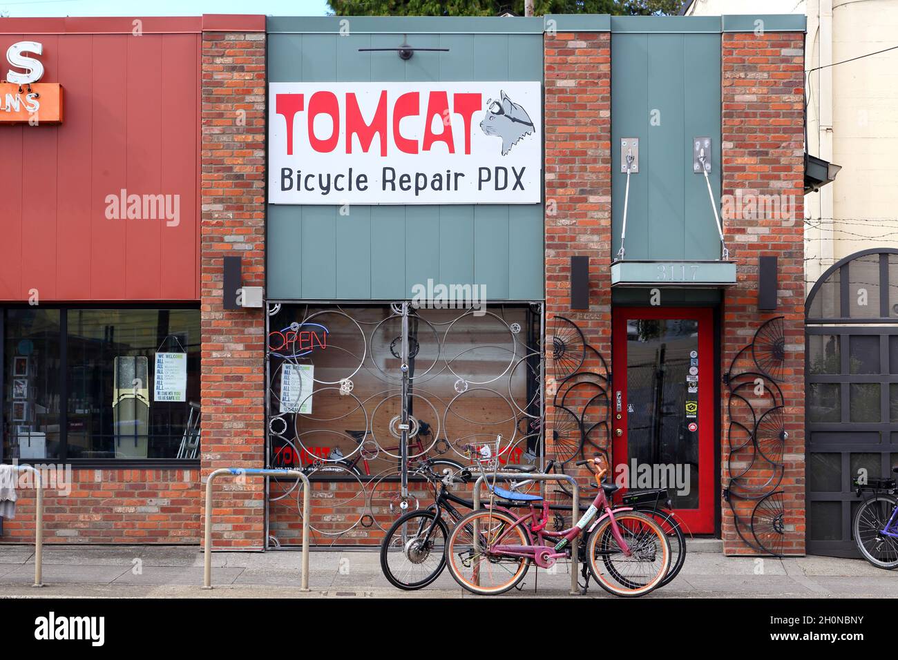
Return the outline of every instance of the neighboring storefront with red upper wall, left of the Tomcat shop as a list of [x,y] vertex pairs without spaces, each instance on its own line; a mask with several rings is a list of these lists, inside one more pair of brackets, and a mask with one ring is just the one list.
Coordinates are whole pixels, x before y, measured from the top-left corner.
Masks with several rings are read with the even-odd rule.
[[[264,21],[11,18],[0,29],[4,53],[18,44],[31,58],[4,67],[0,111],[3,459],[53,466],[48,542],[198,543],[196,440],[215,427],[201,424],[201,372],[223,361],[203,355],[219,321],[201,312],[201,260],[241,246],[216,241],[219,227],[261,232],[261,208],[241,215],[231,180],[249,181],[251,198],[260,172],[264,194],[264,134],[252,128]],[[39,107],[16,115],[31,98]],[[48,115],[45,100],[61,111]],[[22,490],[4,541],[33,538],[32,494]]]

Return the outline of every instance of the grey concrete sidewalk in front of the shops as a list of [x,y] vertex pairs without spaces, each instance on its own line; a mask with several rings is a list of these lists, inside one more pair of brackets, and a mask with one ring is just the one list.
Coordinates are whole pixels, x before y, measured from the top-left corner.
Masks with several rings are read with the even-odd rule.
[[[381,573],[376,550],[313,550],[311,594],[299,591],[298,550],[214,552],[212,584],[204,591],[203,555],[182,546],[47,546],[43,581],[34,588],[34,548],[0,545],[0,597],[472,597],[444,572],[433,585],[402,592]],[[538,583],[538,584],[537,584]],[[531,568],[521,591],[506,596],[568,596],[568,564],[554,574]],[[534,587],[538,586],[534,590]],[[612,598],[591,585],[589,596]],[[898,597],[898,571],[858,559],[727,558],[690,552],[680,576],[649,598]]]

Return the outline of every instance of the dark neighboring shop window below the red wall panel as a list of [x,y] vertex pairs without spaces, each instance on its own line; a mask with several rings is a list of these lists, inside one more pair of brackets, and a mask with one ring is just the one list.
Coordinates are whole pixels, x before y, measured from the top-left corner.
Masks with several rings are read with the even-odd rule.
[[[55,324],[22,325],[36,313]],[[198,310],[7,310],[5,319],[4,460],[198,458]],[[22,348],[33,354],[32,392],[48,402],[35,402],[31,431],[20,433]],[[22,444],[26,432],[37,450]]]

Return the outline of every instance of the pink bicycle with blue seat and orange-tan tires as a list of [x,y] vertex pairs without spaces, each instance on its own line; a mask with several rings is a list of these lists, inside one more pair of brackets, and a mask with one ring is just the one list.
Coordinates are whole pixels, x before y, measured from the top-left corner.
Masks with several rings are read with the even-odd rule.
[[[487,453],[483,447],[471,448],[484,477],[484,466],[477,457]],[[571,541],[591,525],[585,532],[586,559],[590,574],[605,591],[634,597],[656,589],[671,562],[664,530],[631,507],[612,506],[608,496],[618,487],[602,483],[607,466],[601,456],[577,465],[592,471],[601,488],[577,524],[560,532],[547,531],[549,507],[541,496],[515,494],[496,486],[495,479],[493,484],[487,480],[489,507],[462,517],[446,540],[446,567],[453,579],[472,594],[502,594],[524,579],[531,564],[551,568],[558,559],[570,559]],[[529,513],[515,517],[507,509],[493,506],[495,497],[527,504]],[[537,502],[541,502],[541,514],[534,508]],[[603,514],[594,521],[600,511]]]

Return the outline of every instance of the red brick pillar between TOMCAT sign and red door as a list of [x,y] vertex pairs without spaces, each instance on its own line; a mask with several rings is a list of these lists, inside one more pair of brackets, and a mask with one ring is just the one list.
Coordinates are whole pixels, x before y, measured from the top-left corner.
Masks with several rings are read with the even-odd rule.
[[[544,43],[546,434],[551,437],[552,315],[574,321],[611,365],[611,34],[547,33]],[[570,308],[572,256],[589,257],[588,310]],[[597,362],[587,353],[581,369],[599,371]]]

